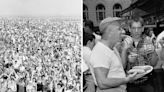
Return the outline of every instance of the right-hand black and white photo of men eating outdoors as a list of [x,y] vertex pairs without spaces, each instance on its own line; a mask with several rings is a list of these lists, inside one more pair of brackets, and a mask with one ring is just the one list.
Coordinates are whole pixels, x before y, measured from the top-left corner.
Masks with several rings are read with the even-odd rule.
[[164,92],[164,0],[83,0],[83,92]]

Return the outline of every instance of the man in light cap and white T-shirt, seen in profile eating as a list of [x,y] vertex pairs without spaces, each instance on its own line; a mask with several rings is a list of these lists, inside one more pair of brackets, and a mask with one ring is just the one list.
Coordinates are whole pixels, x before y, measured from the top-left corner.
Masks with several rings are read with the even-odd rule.
[[101,40],[92,50],[97,92],[126,92],[126,83],[135,80],[136,72],[126,77],[120,56],[114,46],[121,41],[120,18],[106,18],[99,25]]

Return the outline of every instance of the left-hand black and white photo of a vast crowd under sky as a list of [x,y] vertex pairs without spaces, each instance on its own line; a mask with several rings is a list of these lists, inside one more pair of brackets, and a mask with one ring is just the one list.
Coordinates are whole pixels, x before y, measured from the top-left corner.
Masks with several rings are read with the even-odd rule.
[[81,0],[0,0],[0,92],[81,92]]

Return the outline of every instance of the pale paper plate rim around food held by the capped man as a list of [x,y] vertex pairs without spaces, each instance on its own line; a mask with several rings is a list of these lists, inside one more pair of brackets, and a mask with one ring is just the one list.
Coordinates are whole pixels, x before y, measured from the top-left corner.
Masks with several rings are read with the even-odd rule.
[[[145,65],[145,66],[134,66],[132,69],[144,69],[145,72],[144,73],[139,73],[136,75],[136,79],[139,79],[143,76],[145,76],[146,74],[150,73],[153,70],[153,67],[150,65]],[[131,70],[132,70],[131,69]],[[130,71],[130,70],[129,70]]]

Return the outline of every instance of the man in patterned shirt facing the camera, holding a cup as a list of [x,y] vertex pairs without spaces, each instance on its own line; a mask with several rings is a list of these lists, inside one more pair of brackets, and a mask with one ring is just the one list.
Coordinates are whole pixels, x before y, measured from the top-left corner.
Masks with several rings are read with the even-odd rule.
[[[156,67],[158,55],[150,37],[143,36],[143,19],[136,17],[130,23],[130,41],[125,38],[122,49],[122,60],[126,71],[134,66],[150,65]],[[145,75],[131,83],[128,83],[128,92],[154,92],[152,74]]]

